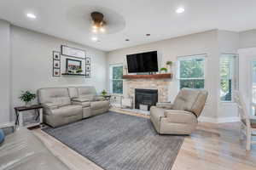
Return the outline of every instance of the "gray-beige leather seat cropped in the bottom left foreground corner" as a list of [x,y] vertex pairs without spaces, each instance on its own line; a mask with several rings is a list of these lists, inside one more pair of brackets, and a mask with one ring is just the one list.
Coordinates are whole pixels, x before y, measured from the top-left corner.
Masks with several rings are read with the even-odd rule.
[[0,146],[1,170],[68,170],[44,144],[26,128],[6,136]]

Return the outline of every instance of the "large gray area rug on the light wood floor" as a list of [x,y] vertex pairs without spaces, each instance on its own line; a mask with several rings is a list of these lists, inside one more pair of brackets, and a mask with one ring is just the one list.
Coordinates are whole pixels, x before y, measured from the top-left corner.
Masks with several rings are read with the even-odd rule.
[[106,170],[171,169],[184,139],[159,135],[149,119],[115,112],[43,130]]

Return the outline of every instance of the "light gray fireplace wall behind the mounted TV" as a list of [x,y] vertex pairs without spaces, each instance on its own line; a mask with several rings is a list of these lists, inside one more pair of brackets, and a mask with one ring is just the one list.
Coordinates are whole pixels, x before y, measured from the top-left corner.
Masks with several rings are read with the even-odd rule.
[[[126,54],[136,54],[151,50],[157,50],[160,58],[160,66],[165,66],[167,60],[177,61],[178,56],[191,54],[207,54],[206,88],[209,91],[207,106],[202,116],[215,118],[218,108],[218,31],[206,31],[184,37],[172,38],[160,42],[148,43],[132,48],[118,49],[107,54],[108,65],[124,63]],[[175,65],[174,65],[175,66]],[[173,71],[176,69],[174,68]],[[107,73],[108,77],[108,73]],[[109,84],[109,80],[107,82]],[[108,85],[107,84],[107,85]],[[124,82],[124,94],[126,95]],[[109,88],[109,85],[108,85]],[[173,77],[170,85],[170,100],[173,101],[178,92],[176,77]]]

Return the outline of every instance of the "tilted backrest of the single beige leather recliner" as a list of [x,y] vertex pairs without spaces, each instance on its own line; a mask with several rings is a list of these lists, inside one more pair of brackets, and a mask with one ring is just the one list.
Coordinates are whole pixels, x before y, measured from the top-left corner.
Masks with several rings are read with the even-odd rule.
[[183,88],[177,94],[172,109],[191,111],[198,117],[206,104],[207,95],[206,90]]

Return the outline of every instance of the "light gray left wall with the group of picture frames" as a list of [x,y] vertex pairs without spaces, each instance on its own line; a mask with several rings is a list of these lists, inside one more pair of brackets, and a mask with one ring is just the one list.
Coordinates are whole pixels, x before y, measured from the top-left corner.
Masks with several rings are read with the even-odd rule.
[[[1,98],[1,114],[6,113],[5,116],[0,116],[1,122],[9,121],[9,113],[13,120],[15,114],[13,108],[17,105],[24,105],[18,99],[22,90],[31,90],[36,93],[38,88],[92,85],[96,87],[97,92],[100,92],[106,88],[105,52],[18,26],[9,26],[9,28],[8,26],[8,23],[3,26],[0,22],[2,53],[0,90],[3,96]],[[91,57],[91,78],[52,77],[52,51],[60,51],[61,45],[82,48],[86,51],[87,56]],[[11,48],[10,57],[7,47]],[[65,59],[61,60],[63,69],[66,66]]]

